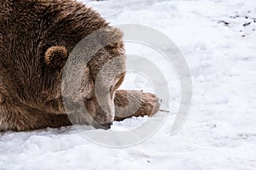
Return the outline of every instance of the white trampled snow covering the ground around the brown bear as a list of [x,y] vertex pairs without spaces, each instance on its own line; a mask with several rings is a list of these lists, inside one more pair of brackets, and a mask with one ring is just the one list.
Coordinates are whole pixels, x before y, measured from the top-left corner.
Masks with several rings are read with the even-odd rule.
[[[170,78],[173,110],[160,130],[142,144],[103,147],[84,139],[73,127],[8,132],[0,137],[0,169],[256,169],[254,0],[84,3],[112,25],[150,26],[177,44],[193,79],[187,122],[176,135],[170,135],[179,88],[173,71],[166,72],[166,76],[174,75]],[[131,47],[127,45],[127,53],[139,49]],[[147,50],[140,53],[154,58]],[[147,82],[136,79],[140,78],[128,77],[123,87],[150,91]],[[145,121],[146,117],[133,118],[115,122],[115,126]]]

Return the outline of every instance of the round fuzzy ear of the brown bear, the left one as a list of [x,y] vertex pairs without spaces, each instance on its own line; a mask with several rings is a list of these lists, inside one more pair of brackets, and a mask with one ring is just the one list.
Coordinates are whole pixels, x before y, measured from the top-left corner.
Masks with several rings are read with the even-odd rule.
[[44,54],[44,62],[52,68],[62,68],[67,60],[67,49],[62,46],[53,46]]

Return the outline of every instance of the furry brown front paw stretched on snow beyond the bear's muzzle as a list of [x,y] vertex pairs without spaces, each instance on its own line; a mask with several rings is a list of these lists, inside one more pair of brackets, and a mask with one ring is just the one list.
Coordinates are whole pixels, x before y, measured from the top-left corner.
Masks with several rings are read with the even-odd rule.
[[153,116],[160,108],[160,100],[154,94],[134,90],[118,90],[114,98],[115,120],[131,116]]

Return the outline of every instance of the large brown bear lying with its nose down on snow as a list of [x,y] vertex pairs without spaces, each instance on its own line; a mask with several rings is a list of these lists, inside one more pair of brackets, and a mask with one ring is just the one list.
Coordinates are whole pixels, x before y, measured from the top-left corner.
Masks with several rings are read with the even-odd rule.
[[[84,37],[102,28],[108,28],[103,40],[114,37],[118,41],[99,49],[84,67],[80,88],[87,112],[67,113],[61,94],[64,65]],[[0,131],[72,125],[74,122],[68,114],[82,115],[75,123],[83,124],[88,124],[83,115],[90,115],[94,120],[92,125],[101,128],[109,128],[113,120],[154,115],[160,106],[156,96],[117,90],[124,80],[125,71],[111,77],[108,71],[115,68],[109,68],[104,73],[106,77],[102,77],[102,87],[110,87],[111,95],[101,94],[100,99],[96,98],[96,76],[104,63],[123,56],[119,58],[119,69],[125,70],[122,36],[119,29],[109,26],[94,10],[73,0],[2,0]],[[72,99],[68,101],[75,107],[76,101]],[[127,109],[126,105],[131,107]],[[137,105],[136,111],[129,110]]]

